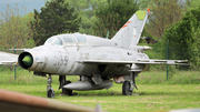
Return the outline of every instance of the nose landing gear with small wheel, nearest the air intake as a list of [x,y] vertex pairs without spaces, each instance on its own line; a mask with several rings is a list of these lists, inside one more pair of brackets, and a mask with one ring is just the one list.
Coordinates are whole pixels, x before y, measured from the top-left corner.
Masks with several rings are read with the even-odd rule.
[[54,99],[54,91],[51,86],[52,78],[51,74],[48,77],[47,95],[48,98]]

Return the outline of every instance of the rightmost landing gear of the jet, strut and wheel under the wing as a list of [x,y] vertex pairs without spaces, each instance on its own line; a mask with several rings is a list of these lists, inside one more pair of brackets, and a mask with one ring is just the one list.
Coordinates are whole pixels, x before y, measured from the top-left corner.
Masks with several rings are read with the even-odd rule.
[[123,85],[122,85],[122,94],[123,95],[132,95],[132,91],[134,88],[138,90],[134,79],[136,79],[136,74],[134,74],[134,72],[131,72],[130,73],[130,81],[123,82]]

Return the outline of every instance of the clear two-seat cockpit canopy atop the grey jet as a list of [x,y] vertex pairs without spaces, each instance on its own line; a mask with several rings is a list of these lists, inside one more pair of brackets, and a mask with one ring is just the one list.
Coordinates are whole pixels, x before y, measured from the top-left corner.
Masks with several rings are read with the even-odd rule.
[[44,44],[57,44],[57,45],[64,45],[64,44],[72,44],[72,43],[87,43],[87,39],[83,34],[73,33],[73,34],[59,34],[49,38]]

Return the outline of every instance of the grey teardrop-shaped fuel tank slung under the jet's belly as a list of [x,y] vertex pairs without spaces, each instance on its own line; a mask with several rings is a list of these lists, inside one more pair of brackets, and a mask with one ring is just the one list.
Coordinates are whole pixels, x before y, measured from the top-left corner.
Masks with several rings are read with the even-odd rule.
[[64,85],[64,89],[77,90],[77,91],[87,91],[87,90],[102,90],[109,89],[112,86],[112,81],[106,80],[103,84],[94,84],[91,81],[78,81],[70,84]]

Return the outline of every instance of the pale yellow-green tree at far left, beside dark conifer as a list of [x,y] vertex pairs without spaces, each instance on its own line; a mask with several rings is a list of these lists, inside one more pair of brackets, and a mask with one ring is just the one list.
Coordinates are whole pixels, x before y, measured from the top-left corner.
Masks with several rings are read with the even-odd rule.
[[[18,4],[11,9],[8,4],[6,13],[1,12],[0,19],[0,48],[31,48],[34,45],[32,32],[29,28],[32,13],[26,14],[24,7],[20,10]],[[23,16],[26,14],[26,16]],[[23,16],[23,17],[21,17]]]

